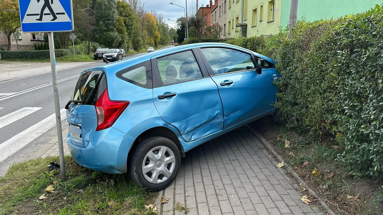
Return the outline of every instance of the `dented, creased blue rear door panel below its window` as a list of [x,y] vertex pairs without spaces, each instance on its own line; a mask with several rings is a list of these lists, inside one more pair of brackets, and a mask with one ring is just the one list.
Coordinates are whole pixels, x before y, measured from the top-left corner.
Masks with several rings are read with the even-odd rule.
[[[169,93],[176,95],[158,99]],[[210,77],[154,88],[153,99],[162,119],[175,126],[187,142],[223,129],[222,103]]]

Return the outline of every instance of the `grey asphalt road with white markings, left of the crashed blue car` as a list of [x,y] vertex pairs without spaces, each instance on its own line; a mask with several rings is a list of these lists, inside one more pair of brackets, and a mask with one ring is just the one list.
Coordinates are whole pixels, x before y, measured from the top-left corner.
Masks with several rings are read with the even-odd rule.
[[[129,57],[132,56],[123,60]],[[79,73],[103,64],[98,60],[57,72],[62,119],[65,119],[64,106],[72,95]],[[51,73],[0,82],[0,176],[14,162],[28,159],[57,135],[51,82]],[[65,121],[62,125],[63,129],[67,127]]]

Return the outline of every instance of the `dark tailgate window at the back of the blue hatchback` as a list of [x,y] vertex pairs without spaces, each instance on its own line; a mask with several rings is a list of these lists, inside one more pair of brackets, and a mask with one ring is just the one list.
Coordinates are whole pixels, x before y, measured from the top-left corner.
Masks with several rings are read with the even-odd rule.
[[82,73],[74,88],[72,100],[80,100],[82,104],[95,105],[105,89],[106,78],[103,71]]

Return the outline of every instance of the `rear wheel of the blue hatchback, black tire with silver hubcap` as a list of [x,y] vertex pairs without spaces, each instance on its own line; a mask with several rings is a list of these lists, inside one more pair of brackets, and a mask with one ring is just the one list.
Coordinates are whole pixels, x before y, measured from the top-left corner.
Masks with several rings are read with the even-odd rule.
[[[162,156],[162,154],[164,155]],[[150,157],[153,155],[154,157]],[[167,163],[169,160],[172,162]],[[149,164],[153,166],[150,167]],[[149,167],[146,168],[147,172],[144,174],[145,166]],[[134,149],[129,175],[140,187],[151,191],[159,191],[165,189],[173,182],[180,166],[180,151],[173,141],[165,137],[149,137],[141,141],[136,149]],[[166,176],[164,174],[170,175]]]

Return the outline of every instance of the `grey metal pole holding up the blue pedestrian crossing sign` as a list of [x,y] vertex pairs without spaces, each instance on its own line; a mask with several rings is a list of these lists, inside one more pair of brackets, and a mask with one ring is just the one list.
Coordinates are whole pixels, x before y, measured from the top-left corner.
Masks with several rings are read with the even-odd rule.
[[57,140],[59,143],[60,170],[61,170],[61,178],[65,179],[64,147],[62,146],[59,89],[57,88],[57,77],[56,77],[57,72],[56,72],[56,58],[54,56],[53,32],[48,33],[48,41],[49,41],[49,54],[51,57],[54,111],[56,112]]

